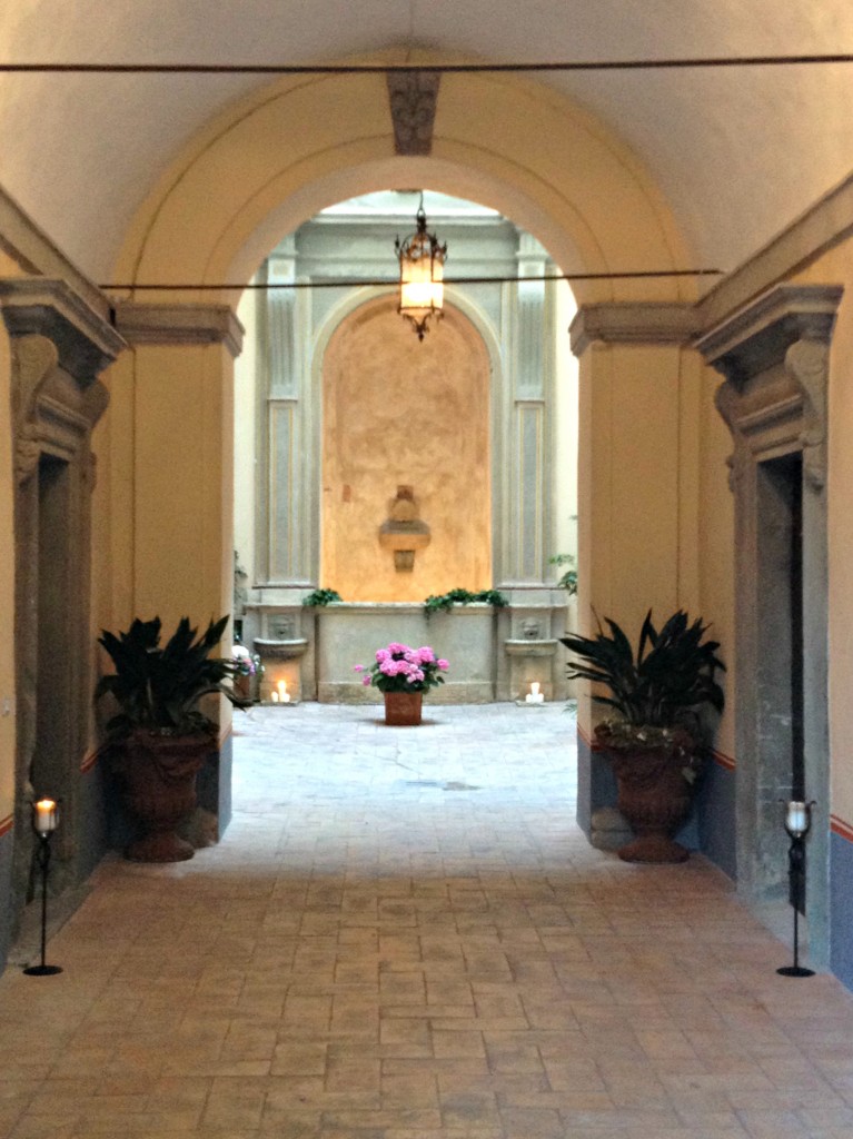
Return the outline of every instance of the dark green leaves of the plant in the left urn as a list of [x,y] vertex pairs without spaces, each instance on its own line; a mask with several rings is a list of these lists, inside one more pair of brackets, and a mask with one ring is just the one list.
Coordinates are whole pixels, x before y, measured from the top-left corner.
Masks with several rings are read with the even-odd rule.
[[223,683],[235,674],[230,659],[212,657],[228,624],[228,614],[212,621],[196,640],[189,617],[161,645],[161,620],[133,621],[128,632],[101,630],[98,644],[109,654],[115,672],[101,677],[95,698],[112,696],[118,712],[107,721],[110,743],[126,739],[137,730],[162,736],[192,736],[215,729],[198,707],[203,696],[221,693],[237,707],[247,706]]

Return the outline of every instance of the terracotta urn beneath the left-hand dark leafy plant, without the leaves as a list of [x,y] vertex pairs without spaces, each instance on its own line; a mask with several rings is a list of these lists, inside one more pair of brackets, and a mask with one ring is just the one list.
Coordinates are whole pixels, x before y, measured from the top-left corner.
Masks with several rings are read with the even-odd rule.
[[142,825],[141,838],[125,851],[134,862],[182,862],[195,849],[175,828],[196,806],[196,776],[212,748],[208,736],[158,736],[134,731],[116,770],[128,810]]

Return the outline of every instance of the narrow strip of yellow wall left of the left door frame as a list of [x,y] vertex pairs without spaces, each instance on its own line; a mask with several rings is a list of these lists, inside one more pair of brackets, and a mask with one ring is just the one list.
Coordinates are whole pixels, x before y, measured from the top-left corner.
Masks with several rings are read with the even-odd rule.
[[10,377],[9,336],[0,319],[0,827],[11,816],[15,803],[15,542]]

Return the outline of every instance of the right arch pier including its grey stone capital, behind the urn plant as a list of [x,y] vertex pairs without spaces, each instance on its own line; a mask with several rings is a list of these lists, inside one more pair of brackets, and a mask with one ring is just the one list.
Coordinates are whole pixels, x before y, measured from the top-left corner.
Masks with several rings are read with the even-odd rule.
[[[698,368],[691,305],[582,306],[572,322],[580,360],[579,624],[612,617],[633,640],[651,608],[658,620],[690,607],[698,548],[696,448]],[[579,686],[577,819],[615,802],[609,767],[590,753],[601,719]]]

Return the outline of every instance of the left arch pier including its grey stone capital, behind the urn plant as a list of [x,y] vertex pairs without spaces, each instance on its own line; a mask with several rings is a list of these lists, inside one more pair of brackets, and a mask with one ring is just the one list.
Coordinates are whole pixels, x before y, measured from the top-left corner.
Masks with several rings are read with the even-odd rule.
[[[233,601],[233,358],[243,328],[227,305],[117,306],[132,359],[116,375],[117,419],[132,453],[113,453],[113,522],[129,500],[132,580],[130,616],[174,629],[183,615],[199,626],[230,613]],[[121,394],[118,394],[121,393]],[[230,818],[231,707],[220,702],[220,751],[199,779],[205,837],[218,838]]]

